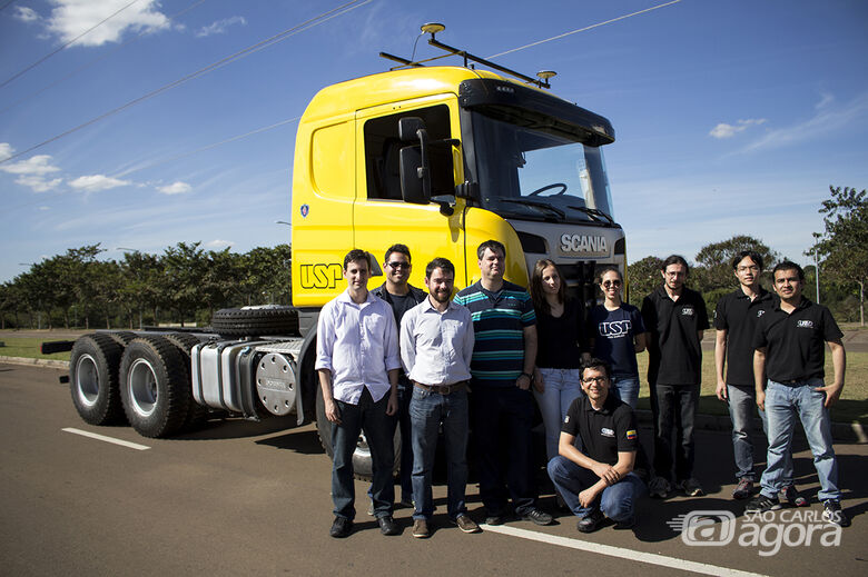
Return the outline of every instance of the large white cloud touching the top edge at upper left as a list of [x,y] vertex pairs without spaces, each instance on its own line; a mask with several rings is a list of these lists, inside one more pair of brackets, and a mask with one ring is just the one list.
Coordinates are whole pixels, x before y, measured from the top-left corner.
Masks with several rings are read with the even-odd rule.
[[68,42],[96,27],[76,41],[78,46],[118,42],[127,30],[155,32],[169,27],[169,19],[158,10],[156,0],[139,1],[128,8],[125,8],[128,0],[52,0],[52,3],[57,8],[51,10],[48,30],[62,41]]

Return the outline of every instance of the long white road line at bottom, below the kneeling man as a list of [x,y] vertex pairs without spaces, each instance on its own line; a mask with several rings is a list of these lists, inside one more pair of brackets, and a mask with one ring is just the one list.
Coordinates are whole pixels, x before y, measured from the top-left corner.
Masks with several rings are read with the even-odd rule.
[[522,539],[546,543],[549,545],[558,545],[559,547],[569,547],[571,549],[579,549],[582,551],[595,553],[599,555],[608,555],[610,557],[619,557],[621,559],[628,559],[631,561],[648,563],[651,565],[658,565],[660,567],[669,567],[672,569],[681,569],[684,571],[693,571],[703,575],[720,575],[727,577],[762,577],[762,575],[758,573],[740,571],[738,569],[718,567],[717,565],[708,565],[706,563],[696,563],[685,559],[679,559],[677,557],[667,557],[665,555],[635,551],[633,549],[625,549],[623,547],[601,545],[596,543],[583,541],[581,539],[575,539],[575,538],[560,537],[558,535],[549,535],[545,533],[530,531],[527,529],[516,529],[515,527],[507,527],[505,525],[497,525],[497,526],[482,525],[482,528],[483,530],[491,531],[491,533],[511,535],[513,537],[520,537]]

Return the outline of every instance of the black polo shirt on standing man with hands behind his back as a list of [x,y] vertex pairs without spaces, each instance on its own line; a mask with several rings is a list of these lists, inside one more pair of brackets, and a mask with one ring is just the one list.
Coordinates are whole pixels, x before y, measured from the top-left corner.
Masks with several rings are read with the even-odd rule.
[[661,285],[642,301],[642,319],[651,334],[648,380],[651,385],[699,385],[702,348],[697,332],[709,328],[702,295],[684,287],[678,300]]

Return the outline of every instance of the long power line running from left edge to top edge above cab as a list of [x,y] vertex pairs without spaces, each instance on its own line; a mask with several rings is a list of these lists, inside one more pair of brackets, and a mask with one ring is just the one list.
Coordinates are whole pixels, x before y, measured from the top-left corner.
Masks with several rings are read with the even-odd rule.
[[[372,2],[372,1],[373,0],[365,0],[365,1],[361,2],[361,3],[358,3],[358,0],[353,0],[351,2],[347,2],[347,3],[344,3],[344,4],[339,6],[337,8],[333,8],[332,10],[323,12],[323,13],[320,13],[318,16],[315,16],[314,18],[310,18],[310,19],[302,22],[300,24],[294,26],[293,28],[288,28],[288,29],[284,30],[283,32],[279,32],[279,33],[277,33],[277,34],[275,34],[275,36],[273,36],[270,38],[262,40],[262,41],[259,41],[259,42],[257,42],[257,43],[255,43],[253,46],[249,46],[249,47],[245,48],[244,50],[239,50],[238,52],[235,52],[234,54],[230,54],[230,56],[228,56],[228,57],[226,57],[226,58],[224,58],[221,60],[218,60],[217,62],[208,64],[205,68],[200,68],[199,70],[197,70],[195,72],[191,72],[191,73],[189,73],[189,74],[187,74],[187,76],[185,76],[185,77],[183,77],[183,78],[180,78],[178,80],[175,80],[174,82],[169,82],[168,84],[165,84],[165,86],[162,86],[162,87],[160,87],[160,88],[158,88],[156,90],[152,90],[152,91],[150,91],[150,92],[148,92],[148,93],[146,93],[144,96],[140,96],[140,97],[138,97],[138,98],[136,98],[134,100],[130,100],[126,105],[119,106],[119,107],[117,107],[117,108],[115,108],[112,110],[109,110],[108,112],[103,112],[102,115],[100,115],[100,116],[98,116],[96,118],[92,118],[92,119],[88,120],[87,122],[83,122],[83,123],[81,123],[81,125],[79,125],[79,126],[77,126],[75,128],[70,128],[69,130],[66,130],[66,131],[63,131],[63,132],[61,132],[59,135],[56,135],[56,136],[49,138],[48,140],[43,140],[42,142],[40,142],[38,145],[33,145],[32,147],[30,147],[30,148],[28,148],[26,150],[22,150],[20,152],[16,152],[14,155],[12,155],[10,157],[7,157],[6,159],[0,160],[0,165],[2,165],[4,162],[9,162],[10,160],[19,158],[21,156],[24,156],[24,155],[27,155],[29,152],[32,152],[33,150],[42,148],[46,145],[50,145],[51,142],[55,142],[56,140],[60,140],[61,138],[67,137],[67,136],[69,136],[71,133],[73,133],[73,132],[77,132],[77,131],[81,130],[82,128],[89,127],[90,125],[99,122],[100,120],[103,120],[103,119],[106,119],[106,118],[108,118],[108,117],[110,117],[112,115],[116,115],[116,113],[120,112],[121,110],[126,110],[127,108],[136,106],[139,102],[144,102],[145,100],[154,98],[155,96],[157,96],[157,94],[159,94],[161,92],[165,92],[165,91],[167,91],[167,90],[169,90],[171,88],[175,88],[177,86],[180,86],[184,82],[193,80],[194,78],[197,78],[197,77],[203,76],[203,74],[205,74],[207,72],[210,72],[211,70],[216,70],[217,68],[226,66],[226,64],[228,64],[230,62],[234,62],[236,60],[240,60],[241,58],[245,58],[245,57],[247,57],[247,56],[249,56],[249,54],[251,54],[254,52],[258,52],[259,50],[268,48],[268,47],[270,47],[270,46],[273,46],[273,44],[275,44],[277,42],[280,42],[282,40],[285,40],[285,39],[287,39],[287,38],[289,38],[292,36],[295,36],[295,34],[297,34],[299,32],[303,32],[305,30],[308,30],[308,29],[310,29],[310,28],[313,28],[315,26],[322,24],[323,22],[326,22],[326,21],[328,21],[328,20],[331,20],[333,18],[336,18],[338,16],[342,16],[342,14],[344,14],[344,13],[351,11],[351,10],[355,10],[356,8],[365,6],[365,4],[367,4],[367,3]],[[353,4],[355,4],[355,6],[353,6]]]

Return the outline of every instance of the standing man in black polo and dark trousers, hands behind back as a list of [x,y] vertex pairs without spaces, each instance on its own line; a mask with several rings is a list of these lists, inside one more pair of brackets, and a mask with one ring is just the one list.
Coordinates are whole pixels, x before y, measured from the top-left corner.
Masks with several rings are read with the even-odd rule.
[[[688,263],[672,255],[663,261],[663,285],[642,301],[648,338],[648,382],[654,420],[654,472],[649,490],[664,498],[675,481],[688,496],[703,494],[693,478],[693,424],[702,371],[702,331],[709,328],[706,301],[684,286]],[[672,429],[675,445],[672,445]]]

